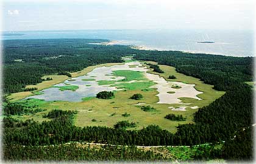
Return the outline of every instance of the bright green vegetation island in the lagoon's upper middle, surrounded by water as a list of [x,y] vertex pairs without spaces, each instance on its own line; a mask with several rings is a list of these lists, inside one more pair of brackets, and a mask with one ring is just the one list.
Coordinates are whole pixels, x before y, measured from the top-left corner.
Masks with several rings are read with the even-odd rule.
[[143,76],[143,72],[133,70],[114,70],[113,75],[118,77],[125,77],[123,80],[118,81],[132,81],[132,80],[147,80]]

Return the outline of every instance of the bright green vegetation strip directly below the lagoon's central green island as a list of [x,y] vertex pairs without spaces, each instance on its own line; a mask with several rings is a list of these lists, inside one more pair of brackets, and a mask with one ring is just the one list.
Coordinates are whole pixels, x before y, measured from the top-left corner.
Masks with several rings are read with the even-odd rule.
[[138,90],[138,89],[147,89],[148,87],[154,85],[152,81],[143,81],[143,82],[133,82],[133,83],[119,83],[112,84],[112,87],[117,87],[118,89],[129,89],[129,90]]

